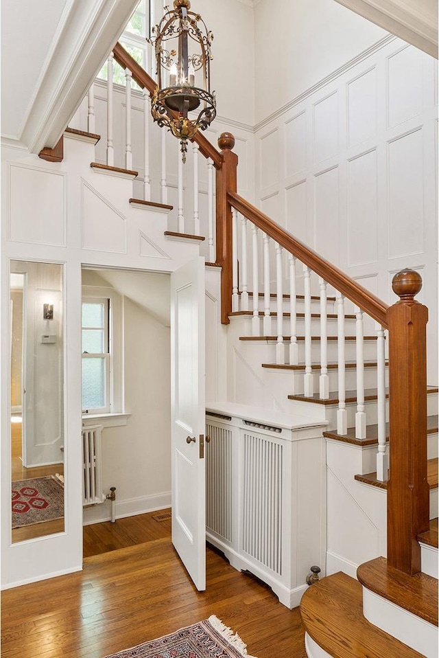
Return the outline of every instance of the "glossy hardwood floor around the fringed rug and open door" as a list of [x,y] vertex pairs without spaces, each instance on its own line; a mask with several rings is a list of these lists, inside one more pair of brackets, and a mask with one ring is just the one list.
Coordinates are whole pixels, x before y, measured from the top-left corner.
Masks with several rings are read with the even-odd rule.
[[285,608],[211,547],[206,591],[196,591],[171,545],[169,521],[152,516],[84,527],[83,571],[3,591],[2,658],[103,658],[212,614],[252,656],[306,658],[298,608]]

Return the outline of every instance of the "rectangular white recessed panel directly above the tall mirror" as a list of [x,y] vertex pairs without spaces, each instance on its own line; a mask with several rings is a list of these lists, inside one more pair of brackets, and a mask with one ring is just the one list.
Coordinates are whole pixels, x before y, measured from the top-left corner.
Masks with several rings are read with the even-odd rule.
[[65,174],[11,165],[9,194],[10,240],[65,247]]

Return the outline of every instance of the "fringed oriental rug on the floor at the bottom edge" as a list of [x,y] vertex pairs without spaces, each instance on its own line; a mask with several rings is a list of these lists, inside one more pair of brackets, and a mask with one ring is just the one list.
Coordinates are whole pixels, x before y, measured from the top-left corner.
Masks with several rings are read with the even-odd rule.
[[107,658],[254,658],[246,645],[215,615],[152,642],[113,653]]

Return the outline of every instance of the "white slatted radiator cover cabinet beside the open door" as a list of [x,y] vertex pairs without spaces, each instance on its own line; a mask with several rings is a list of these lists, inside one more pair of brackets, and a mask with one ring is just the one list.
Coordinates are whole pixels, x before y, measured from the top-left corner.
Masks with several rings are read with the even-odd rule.
[[224,403],[206,409],[206,536],[289,608],[326,553],[324,424]]

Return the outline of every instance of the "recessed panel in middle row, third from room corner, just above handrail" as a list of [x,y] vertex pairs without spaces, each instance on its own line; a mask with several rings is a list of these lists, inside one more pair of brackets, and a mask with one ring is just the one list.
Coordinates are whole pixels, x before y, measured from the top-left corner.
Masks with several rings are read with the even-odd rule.
[[339,263],[339,172],[335,167],[315,179],[314,235],[316,251],[333,264]]

